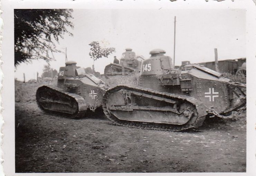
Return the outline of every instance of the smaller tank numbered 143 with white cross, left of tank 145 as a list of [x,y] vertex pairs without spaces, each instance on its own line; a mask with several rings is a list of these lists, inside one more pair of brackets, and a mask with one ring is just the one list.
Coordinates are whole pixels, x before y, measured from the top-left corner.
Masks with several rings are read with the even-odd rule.
[[48,114],[68,118],[84,117],[88,109],[101,106],[108,86],[93,74],[85,73],[76,62],[68,61],[60,67],[57,86],[42,86],[37,89],[39,108]]

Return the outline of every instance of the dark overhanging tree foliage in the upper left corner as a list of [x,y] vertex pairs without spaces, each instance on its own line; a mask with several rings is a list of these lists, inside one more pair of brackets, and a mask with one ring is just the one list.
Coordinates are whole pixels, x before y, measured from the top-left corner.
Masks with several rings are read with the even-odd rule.
[[53,53],[59,38],[63,39],[68,28],[73,29],[72,9],[15,9],[14,38],[15,66],[33,59],[54,59]]

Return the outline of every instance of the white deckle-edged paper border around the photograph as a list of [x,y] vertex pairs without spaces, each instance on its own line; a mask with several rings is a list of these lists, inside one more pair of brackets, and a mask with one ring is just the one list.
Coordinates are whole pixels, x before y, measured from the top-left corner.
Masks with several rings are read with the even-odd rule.
[[[63,176],[70,173],[15,173],[15,89],[14,89],[14,22],[13,9],[246,9],[246,58],[247,58],[247,145],[246,145],[246,173],[72,173],[80,175],[256,175],[256,4],[255,0],[4,0],[1,1],[1,18],[3,19],[2,61],[1,66],[4,77],[0,72],[0,81],[3,84],[1,106],[4,108],[1,115],[4,120],[2,133],[2,163],[0,175],[53,175]],[[0,26],[1,29],[1,26]],[[1,64],[2,62],[0,62]],[[2,122],[2,120],[0,120]],[[2,136],[2,135],[1,135]],[[0,141],[1,142],[1,141]],[[1,156],[0,154],[0,156]]]

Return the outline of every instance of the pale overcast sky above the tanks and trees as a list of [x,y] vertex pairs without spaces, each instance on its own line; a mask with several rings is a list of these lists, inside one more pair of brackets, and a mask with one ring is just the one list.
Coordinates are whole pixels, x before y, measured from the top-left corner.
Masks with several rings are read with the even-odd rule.
[[[176,16],[175,65],[182,61],[191,63],[214,61],[214,48],[218,48],[219,60],[246,57],[246,12],[230,10],[110,10],[74,9],[73,37],[65,36],[58,48],[65,51],[69,61],[77,66],[90,67],[89,56],[92,41],[102,46],[115,47],[116,53],[95,62],[95,70],[104,73],[106,65],[120,59],[125,48],[130,47],[136,55],[148,58],[155,48],[166,51],[173,58],[174,16]],[[55,54],[51,67],[59,70],[65,66],[65,55]],[[15,77],[23,80],[36,79],[46,65],[45,61],[17,66]]]

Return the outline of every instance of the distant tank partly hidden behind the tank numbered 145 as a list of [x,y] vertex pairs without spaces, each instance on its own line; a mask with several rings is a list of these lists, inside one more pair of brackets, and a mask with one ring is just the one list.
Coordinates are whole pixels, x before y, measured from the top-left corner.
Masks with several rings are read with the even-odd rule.
[[122,54],[120,63],[118,59],[114,59],[114,63],[109,64],[104,69],[104,75],[131,75],[139,73],[141,68],[141,56],[136,56],[135,52],[131,48],[126,48],[126,51]]

